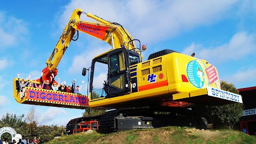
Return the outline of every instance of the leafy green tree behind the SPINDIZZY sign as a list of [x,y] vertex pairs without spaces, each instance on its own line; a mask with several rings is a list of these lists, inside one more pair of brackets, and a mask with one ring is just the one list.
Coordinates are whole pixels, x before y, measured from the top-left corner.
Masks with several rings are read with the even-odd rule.
[[[220,82],[221,90],[239,94],[239,91],[233,84],[228,84],[225,81]],[[242,116],[243,112],[243,103],[232,103],[222,106],[210,107],[210,113],[213,119],[225,124],[227,128],[233,129],[235,123],[239,121],[239,118]]]

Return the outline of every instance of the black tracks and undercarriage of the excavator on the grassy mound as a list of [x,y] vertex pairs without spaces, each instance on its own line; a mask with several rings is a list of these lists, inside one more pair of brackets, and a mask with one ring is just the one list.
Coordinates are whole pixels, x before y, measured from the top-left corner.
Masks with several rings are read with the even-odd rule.
[[[168,111],[168,112],[167,112]],[[85,121],[98,121],[100,133],[121,132],[134,129],[151,129],[163,126],[188,126],[207,129],[207,114],[201,110],[180,107],[132,107],[107,111],[101,116],[71,119],[67,133]],[[207,117],[209,118],[209,117]],[[211,120],[209,118],[209,120]],[[210,121],[211,122],[211,121]]]

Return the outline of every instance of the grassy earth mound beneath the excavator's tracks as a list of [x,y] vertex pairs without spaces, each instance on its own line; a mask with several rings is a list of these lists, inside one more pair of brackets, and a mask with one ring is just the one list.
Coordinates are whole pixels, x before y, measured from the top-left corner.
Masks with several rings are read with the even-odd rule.
[[110,134],[77,133],[53,139],[47,143],[256,143],[256,138],[234,130],[198,130],[168,126],[158,129],[140,129]]

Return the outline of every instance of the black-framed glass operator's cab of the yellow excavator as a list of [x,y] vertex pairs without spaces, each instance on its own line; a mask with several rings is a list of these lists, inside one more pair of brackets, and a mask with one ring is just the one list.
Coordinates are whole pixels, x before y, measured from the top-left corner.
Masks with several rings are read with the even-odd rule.
[[[128,54],[127,49],[120,48],[93,59],[90,81],[91,94],[93,91],[94,93],[100,93],[97,90],[104,90],[104,96],[109,98],[131,91]],[[99,76],[95,77],[94,75]],[[107,79],[101,78],[106,76]],[[103,84],[103,88],[100,87],[100,83]]]

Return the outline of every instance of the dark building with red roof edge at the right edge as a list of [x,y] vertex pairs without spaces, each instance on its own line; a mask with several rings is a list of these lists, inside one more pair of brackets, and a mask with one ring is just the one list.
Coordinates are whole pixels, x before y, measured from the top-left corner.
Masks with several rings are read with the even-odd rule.
[[241,131],[256,135],[256,86],[238,89],[243,97],[244,110],[240,118]]

